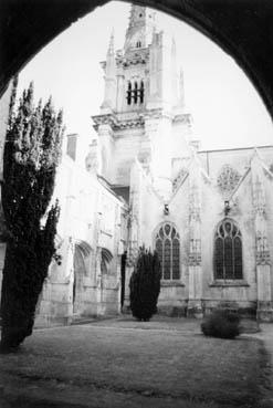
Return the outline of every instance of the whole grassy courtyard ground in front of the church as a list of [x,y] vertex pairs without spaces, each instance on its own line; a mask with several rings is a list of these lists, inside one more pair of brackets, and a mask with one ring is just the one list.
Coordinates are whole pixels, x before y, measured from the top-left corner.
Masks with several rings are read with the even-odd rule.
[[273,325],[234,341],[130,316],[35,329],[0,355],[1,408],[272,408]]

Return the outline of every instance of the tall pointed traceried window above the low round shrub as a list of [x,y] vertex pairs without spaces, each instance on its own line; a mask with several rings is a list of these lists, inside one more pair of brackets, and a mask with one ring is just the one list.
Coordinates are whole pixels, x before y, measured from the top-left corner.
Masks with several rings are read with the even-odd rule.
[[220,222],[214,236],[214,279],[243,279],[242,234],[228,218]]

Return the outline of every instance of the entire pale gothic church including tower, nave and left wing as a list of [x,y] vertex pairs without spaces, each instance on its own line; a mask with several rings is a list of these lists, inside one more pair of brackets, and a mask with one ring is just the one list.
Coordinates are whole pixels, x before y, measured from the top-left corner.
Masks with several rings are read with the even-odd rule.
[[273,146],[203,151],[187,109],[176,42],[132,6],[112,34],[85,168],[67,136],[55,196],[57,244],[38,324],[126,312],[138,248],[161,261],[159,313],[201,317],[221,304],[273,321]]

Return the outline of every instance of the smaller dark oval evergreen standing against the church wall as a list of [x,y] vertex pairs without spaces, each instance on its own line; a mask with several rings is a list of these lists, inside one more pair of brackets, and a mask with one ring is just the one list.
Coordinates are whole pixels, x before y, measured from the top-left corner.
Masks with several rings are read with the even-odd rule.
[[134,317],[149,321],[157,313],[160,279],[161,266],[158,254],[140,248],[129,282],[130,310]]

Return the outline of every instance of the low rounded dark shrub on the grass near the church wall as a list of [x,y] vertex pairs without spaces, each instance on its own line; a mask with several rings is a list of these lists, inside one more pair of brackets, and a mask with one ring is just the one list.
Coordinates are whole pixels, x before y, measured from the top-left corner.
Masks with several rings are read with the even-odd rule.
[[239,336],[240,317],[229,310],[216,310],[201,323],[206,336],[234,338]]

